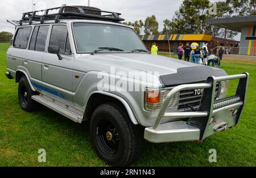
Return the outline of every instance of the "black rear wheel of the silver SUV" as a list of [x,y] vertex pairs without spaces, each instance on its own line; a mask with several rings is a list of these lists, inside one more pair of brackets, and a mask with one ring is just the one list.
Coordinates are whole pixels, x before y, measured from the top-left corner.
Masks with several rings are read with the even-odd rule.
[[26,77],[19,80],[18,97],[20,107],[24,111],[35,111],[39,108],[39,103],[32,100],[32,95],[38,95],[37,92],[32,91]]

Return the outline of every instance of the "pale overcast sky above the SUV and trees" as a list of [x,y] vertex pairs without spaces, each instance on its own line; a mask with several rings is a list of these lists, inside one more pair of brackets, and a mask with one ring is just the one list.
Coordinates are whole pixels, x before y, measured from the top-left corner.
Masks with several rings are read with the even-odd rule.
[[[14,26],[6,22],[6,19],[19,20],[23,12],[32,11],[32,0],[0,0],[0,32],[14,32]],[[34,0],[36,10],[58,7],[61,5],[88,5],[88,0]],[[126,22],[134,22],[152,14],[156,15],[159,22],[159,31],[163,29],[163,20],[172,19],[176,10],[179,9],[183,0],[90,0],[90,6],[101,10],[121,12]],[[215,0],[216,1],[216,0]],[[240,37],[236,37],[240,40]]]

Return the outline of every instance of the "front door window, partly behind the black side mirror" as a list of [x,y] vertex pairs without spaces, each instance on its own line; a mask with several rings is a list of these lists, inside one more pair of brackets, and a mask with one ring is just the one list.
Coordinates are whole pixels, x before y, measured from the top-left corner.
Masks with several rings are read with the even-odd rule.
[[49,45],[60,46],[60,54],[70,54],[71,47],[67,26],[53,26]]

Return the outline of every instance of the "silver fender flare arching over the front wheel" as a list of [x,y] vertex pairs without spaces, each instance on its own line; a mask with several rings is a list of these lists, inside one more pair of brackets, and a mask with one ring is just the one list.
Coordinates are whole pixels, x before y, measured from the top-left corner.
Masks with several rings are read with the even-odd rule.
[[[105,91],[93,91],[90,96],[92,96],[93,94],[102,94],[102,95],[107,95],[110,97],[113,97],[119,101],[121,101],[121,103],[125,106],[126,111],[130,117],[131,122],[133,122],[134,125],[138,125],[138,121],[136,119],[136,117],[134,116],[133,110],[131,110],[130,105],[124,100],[122,99],[120,96],[114,95],[114,94],[110,94],[109,92],[105,92]],[[89,96],[89,98],[90,98]]]

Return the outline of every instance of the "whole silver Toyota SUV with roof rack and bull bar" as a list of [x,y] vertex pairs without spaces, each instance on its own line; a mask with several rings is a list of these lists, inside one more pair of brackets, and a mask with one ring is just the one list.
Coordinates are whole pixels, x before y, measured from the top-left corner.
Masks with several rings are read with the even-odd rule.
[[[41,14],[40,14],[41,13]],[[20,107],[81,123],[100,158],[129,166],[143,141],[200,141],[238,124],[249,74],[150,55],[118,13],[63,6],[24,13],[6,55]],[[226,97],[229,80],[239,79]]]

